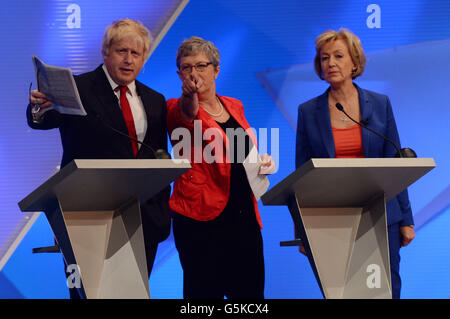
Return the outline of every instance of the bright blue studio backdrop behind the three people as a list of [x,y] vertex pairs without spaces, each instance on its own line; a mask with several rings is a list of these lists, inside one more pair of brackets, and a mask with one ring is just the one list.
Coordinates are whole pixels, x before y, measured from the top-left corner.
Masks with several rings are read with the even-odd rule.
[[[6,40],[0,58],[7,62],[0,86],[6,98],[0,118],[1,252],[11,247],[26,218],[33,218],[23,215],[17,202],[46,180],[61,158],[57,130],[33,131],[26,125],[31,54],[74,73],[87,71],[102,62],[101,36],[112,20],[139,19],[159,34],[175,2],[133,1],[124,10],[110,1],[29,0],[10,3],[0,12],[1,38]],[[74,3],[78,8],[69,8]],[[326,29],[351,29],[368,56],[357,83],[389,95],[402,144],[437,164],[410,187],[417,237],[401,250],[402,297],[449,298],[449,16],[446,0],[194,0],[159,43],[139,80],[166,98],[179,96],[178,45],[192,35],[213,41],[222,55],[218,93],[240,99],[249,123],[268,128],[269,138],[270,128],[279,129],[279,170],[270,178],[275,185],[294,170],[298,104],[327,87],[313,70],[314,39]],[[295,248],[279,247],[293,236],[287,208],[260,209],[266,297],[321,298],[306,258]],[[0,264],[0,297],[68,297],[61,256],[31,254],[32,247],[52,240],[42,214],[7,263]],[[172,237],[160,245],[150,288],[153,298],[182,296]]]

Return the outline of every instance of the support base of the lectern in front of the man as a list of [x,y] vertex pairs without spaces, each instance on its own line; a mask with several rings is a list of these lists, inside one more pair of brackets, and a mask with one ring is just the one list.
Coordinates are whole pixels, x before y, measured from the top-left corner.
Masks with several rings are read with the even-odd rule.
[[139,201],[63,212],[87,298],[150,298]]

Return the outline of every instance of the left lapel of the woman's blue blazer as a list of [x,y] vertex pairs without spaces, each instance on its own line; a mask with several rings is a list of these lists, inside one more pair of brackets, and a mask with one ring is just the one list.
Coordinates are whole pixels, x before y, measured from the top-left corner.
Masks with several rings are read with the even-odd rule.
[[331,129],[330,110],[328,108],[328,90],[317,99],[316,123],[319,128],[322,143],[328,156],[335,157],[333,131]]

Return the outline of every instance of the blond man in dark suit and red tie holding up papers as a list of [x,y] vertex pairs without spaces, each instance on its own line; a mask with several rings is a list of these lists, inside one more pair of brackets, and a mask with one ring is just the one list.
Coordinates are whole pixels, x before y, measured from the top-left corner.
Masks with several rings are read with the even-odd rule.
[[[28,124],[41,130],[59,128],[61,167],[73,159],[155,158],[153,150],[167,151],[165,98],[136,80],[149,57],[150,45],[150,32],[138,21],[121,19],[106,28],[104,63],[94,71],[74,76],[87,112],[85,117],[50,110],[52,101],[42,92],[31,91]],[[170,187],[141,205],[149,276],[158,243],[170,233],[169,195]],[[78,297],[72,290],[71,297]]]

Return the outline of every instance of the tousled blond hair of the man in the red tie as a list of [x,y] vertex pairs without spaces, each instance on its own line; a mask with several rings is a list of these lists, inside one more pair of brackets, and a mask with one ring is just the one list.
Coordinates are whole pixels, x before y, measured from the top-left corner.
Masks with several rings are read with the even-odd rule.
[[140,41],[144,47],[144,61],[150,56],[150,45],[152,35],[150,31],[140,22],[128,18],[114,21],[106,27],[103,35],[102,54],[108,56],[109,49],[115,42],[119,42],[126,37],[133,37]]

